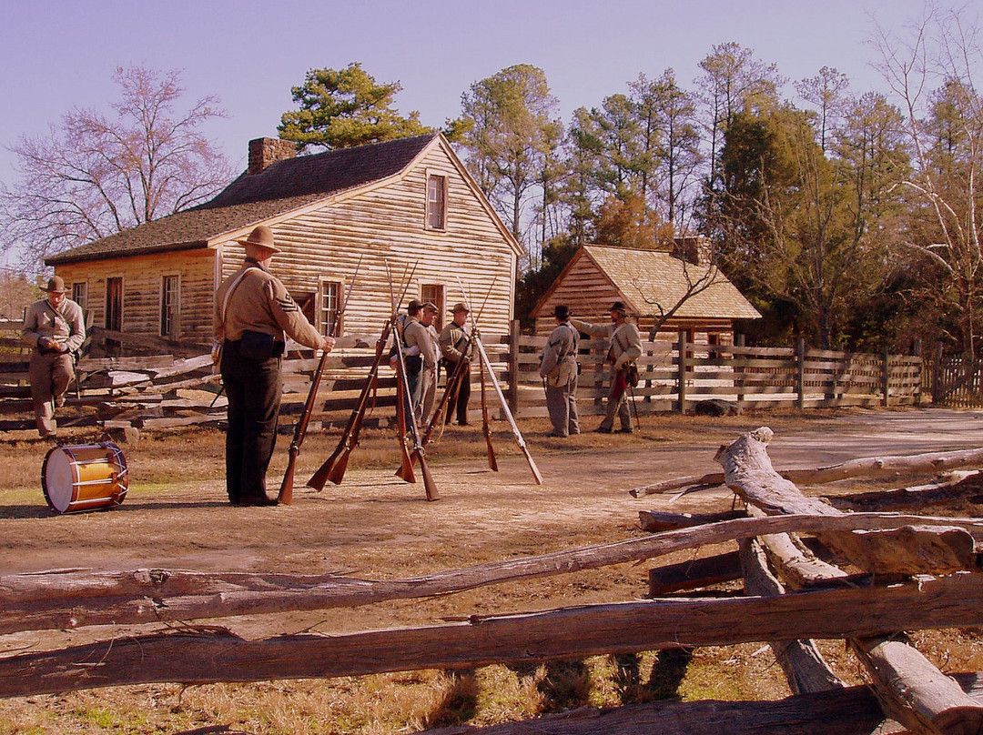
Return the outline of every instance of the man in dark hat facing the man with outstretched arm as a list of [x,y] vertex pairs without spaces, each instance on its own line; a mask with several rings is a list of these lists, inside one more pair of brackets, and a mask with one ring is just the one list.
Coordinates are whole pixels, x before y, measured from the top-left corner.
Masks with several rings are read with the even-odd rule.
[[577,418],[577,344],[580,337],[570,323],[570,310],[557,306],[553,310],[556,328],[549,333],[543,350],[540,375],[547,386],[547,410],[553,424],[547,436],[580,433]]

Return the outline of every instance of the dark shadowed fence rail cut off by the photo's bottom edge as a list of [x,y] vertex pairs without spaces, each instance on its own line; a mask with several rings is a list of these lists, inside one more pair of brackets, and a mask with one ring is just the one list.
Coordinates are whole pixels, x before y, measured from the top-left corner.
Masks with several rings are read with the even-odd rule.
[[[979,674],[959,675],[977,701]],[[777,702],[655,702],[611,709],[579,707],[568,712],[489,727],[457,725],[418,735],[870,735],[883,714],[867,687],[848,687]]]

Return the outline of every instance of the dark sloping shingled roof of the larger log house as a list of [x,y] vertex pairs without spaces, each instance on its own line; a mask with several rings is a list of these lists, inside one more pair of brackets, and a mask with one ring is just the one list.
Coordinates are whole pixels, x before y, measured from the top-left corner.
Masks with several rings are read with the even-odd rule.
[[199,206],[52,255],[44,262],[56,265],[114,255],[202,248],[222,233],[395,176],[437,135],[276,161],[260,173],[243,173],[217,197]]

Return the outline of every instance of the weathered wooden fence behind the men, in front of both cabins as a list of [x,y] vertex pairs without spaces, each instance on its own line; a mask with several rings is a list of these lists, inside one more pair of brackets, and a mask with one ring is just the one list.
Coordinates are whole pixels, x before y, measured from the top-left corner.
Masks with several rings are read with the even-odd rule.
[[[93,331],[96,349],[79,364],[79,389],[73,386],[70,390],[68,413],[63,414],[68,422],[106,428],[164,428],[224,419],[224,397],[214,399],[220,379],[212,373],[208,356],[201,354],[201,346]],[[8,334],[0,339],[5,350],[0,360],[0,430],[30,428],[28,356],[13,333]],[[513,415],[547,416],[539,375],[546,338],[522,335],[516,324],[512,335],[490,334],[482,339]],[[372,364],[376,340],[372,335],[339,340],[320,384],[316,426],[318,421],[330,425],[347,417]],[[607,342],[582,340],[580,346],[578,409],[583,416],[602,414],[609,380]],[[95,357],[120,350],[157,354]],[[161,350],[169,354],[161,355]],[[284,416],[301,412],[311,375],[318,367],[310,352],[288,353],[287,357]],[[635,409],[643,415],[690,412],[710,399],[742,407],[801,409],[917,405],[927,403],[932,395],[923,378],[938,373],[925,369],[918,356],[811,350],[802,342],[795,348],[695,344],[687,342],[684,333],[676,342],[644,342],[638,365],[641,381],[631,394]],[[379,374],[370,424],[385,425],[394,414],[395,375],[385,365]],[[472,379],[477,377],[478,370],[472,370]],[[939,380],[936,377],[935,385]],[[179,393],[196,389],[211,395]]]

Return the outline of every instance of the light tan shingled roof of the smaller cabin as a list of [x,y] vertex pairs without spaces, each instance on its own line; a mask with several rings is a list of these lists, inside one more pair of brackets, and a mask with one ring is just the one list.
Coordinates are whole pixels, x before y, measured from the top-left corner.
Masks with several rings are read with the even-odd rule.
[[[662,251],[629,250],[599,245],[584,246],[614,286],[636,309],[646,311],[647,303],[670,308],[686,291],[687,271],[691,279],[706,272],[707,266],[684,263]],[[717,271],[715,282],[687,299],[675,314],[680,318],[756,319],[761,314]]]

